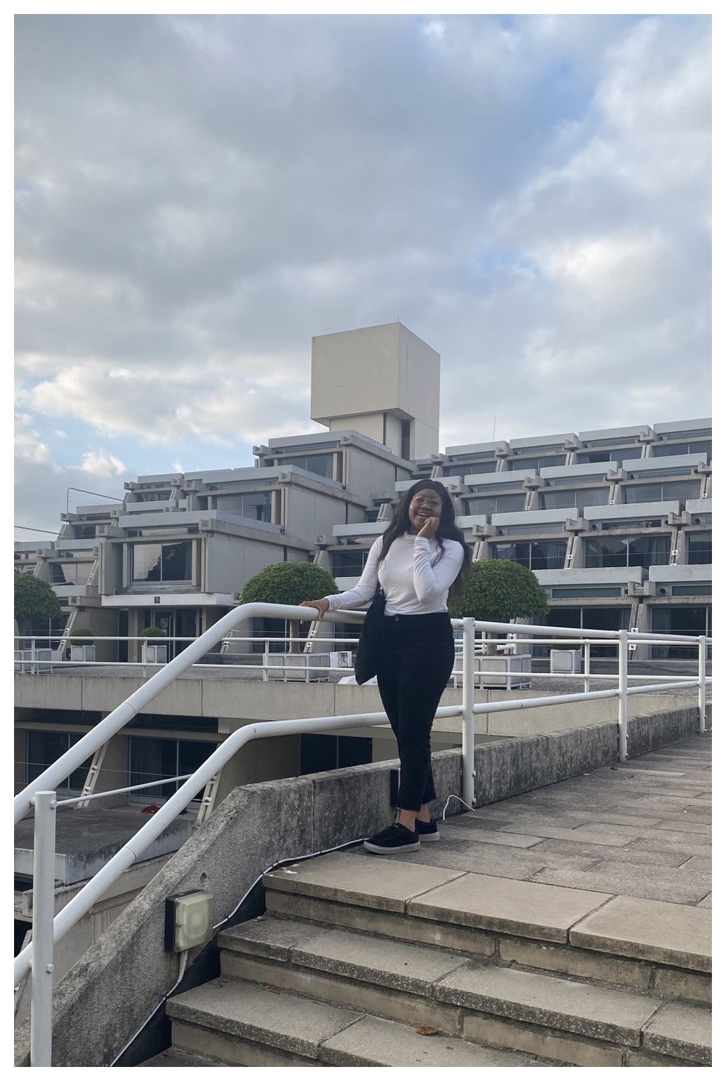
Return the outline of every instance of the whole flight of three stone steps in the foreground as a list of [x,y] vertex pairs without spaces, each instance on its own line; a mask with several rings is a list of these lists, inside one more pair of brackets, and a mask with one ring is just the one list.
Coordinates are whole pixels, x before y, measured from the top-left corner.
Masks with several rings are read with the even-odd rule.
[[710,911],[331,853],[265,876],[144,1066],[709,1066]]

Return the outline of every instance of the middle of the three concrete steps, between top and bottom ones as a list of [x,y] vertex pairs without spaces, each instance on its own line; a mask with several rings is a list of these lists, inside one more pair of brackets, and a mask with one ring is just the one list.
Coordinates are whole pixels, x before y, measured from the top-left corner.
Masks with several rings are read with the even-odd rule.
[[462,952],[263,916],[219,936],[223,977],[577,1066],[710,1063],[710,1011]]

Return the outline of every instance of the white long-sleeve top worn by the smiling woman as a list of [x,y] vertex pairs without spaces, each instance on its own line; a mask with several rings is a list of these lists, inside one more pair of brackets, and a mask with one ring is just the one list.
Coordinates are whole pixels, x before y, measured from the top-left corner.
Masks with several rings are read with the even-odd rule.
[[377,537],[357,585],[326,598],[331,611],[366,604],[380,580],[385,593],[386,615],[446,612],[449,588],[461,570],[464,549],[458,540],[444,539],[441,543],[444,555],[435,562],[439,555],[437,540],[404,533],[396,537],[380,569],[377,569],[383,544],[383,537]]

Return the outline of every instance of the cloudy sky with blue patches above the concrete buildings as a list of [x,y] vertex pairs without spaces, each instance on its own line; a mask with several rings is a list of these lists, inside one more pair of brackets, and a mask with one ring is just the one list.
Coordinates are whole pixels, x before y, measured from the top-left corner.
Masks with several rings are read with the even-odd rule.
[[15,34],[16,526],[322,430],[312,336],[397,319],[441,449],[711,414],[708,16]]

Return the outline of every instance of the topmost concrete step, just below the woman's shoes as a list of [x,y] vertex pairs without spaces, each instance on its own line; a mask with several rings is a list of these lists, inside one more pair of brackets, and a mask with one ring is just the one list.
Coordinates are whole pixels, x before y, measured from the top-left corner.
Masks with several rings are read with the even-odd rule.
[[498,963],[711,1001],[711,912],[638,897],[331,853],[264,877],[267,911]]

